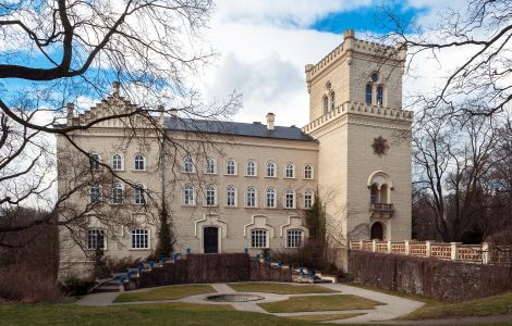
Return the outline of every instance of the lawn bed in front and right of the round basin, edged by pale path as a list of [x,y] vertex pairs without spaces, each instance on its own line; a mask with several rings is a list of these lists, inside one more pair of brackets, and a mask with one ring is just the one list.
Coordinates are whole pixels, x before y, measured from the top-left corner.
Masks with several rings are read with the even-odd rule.
[[381,302],[351,296],[304,296],[291,297],[284,301],[259,303],[259,306],[272,313],[332,311],[332,310],[359,310],[374,309]]

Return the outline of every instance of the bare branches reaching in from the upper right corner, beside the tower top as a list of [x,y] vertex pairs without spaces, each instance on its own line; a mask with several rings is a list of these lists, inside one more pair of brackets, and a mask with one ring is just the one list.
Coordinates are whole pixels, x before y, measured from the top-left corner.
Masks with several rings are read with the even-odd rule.
[[[389,30],[377,37],[406,48],[407,72],[415,64],[442,63],[456,51],[456,61],[432,91],[410,99],[418,112],[443,117],[510,114],[512,102],[512,7],[508,0],[472,0],[465,10],[439,12],[437,23],[418,26],[382,8],[379,23]],[[446,63],[446,62],[444,62]],[[422,114],[416,117],[422,117]]]

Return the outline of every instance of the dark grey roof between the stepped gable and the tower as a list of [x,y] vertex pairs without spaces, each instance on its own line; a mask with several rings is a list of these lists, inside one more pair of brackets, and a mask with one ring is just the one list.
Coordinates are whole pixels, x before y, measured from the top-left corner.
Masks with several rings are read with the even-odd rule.
[[236,122],[220,122],[208,120],[192,120],[181,117],[166,117],[166,129],[186,130],[195,133],[222,134],[231,136],[247,136],[259,138],[291,139],[315,141],[315,139],[297,127],[276,126],[273,130],[267,129],[263,124],[245,124]]

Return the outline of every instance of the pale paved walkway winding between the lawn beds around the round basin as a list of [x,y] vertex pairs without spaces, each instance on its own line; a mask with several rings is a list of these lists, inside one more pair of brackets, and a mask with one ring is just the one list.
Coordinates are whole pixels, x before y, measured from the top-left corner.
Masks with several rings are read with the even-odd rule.
[[[302,286],[302,285],[295,285]],[[251,311],[251,312],[258,312],[264,314],[273,314],[276,316],[282,317],[292,317],[292,316],[302,316],[302,315],[328,315],[328,314],[348,314],[348,313],[364,313],[364,315],[341,319],[341,321],[330,321],[329,323],[338,323],[338,324],[352,324],[352,323],[382,323],[385,321],[394,319],[400,317],[401,315],[407,314],[410,312],[415,311],[416,309],[420,308],[424,303],[418,301],[413,301],[405,298],[389,296],[371,290],[366,290],[357,287],[352,287],[342,284],[318,284],[317,286],[329,288],[336,290],[338,292],[332,293],[301,293],[301,294],[276,294],[276,293],[260,293],[254,292],[251,294],[259,294],[264,296],[264,300],[258,301],[249,301],[249,302],[229,302],[229,304],[233,305],[235,310],[239,311]],[[230,288],[227,284],[211,284],[211,287],[219,292],[219,293],[236,293],[235,290]],[[136,291],[148,291],[149,289],[141,289]],[[385,304],[377,305],[375,309],[371,310],[351,310],[351,311],[325,311],[325,312],[297,312],[297,313],[269,313],[261,309],[258,303],[265,302],[275,302],[275,301],[282,301],[287,300],[290,297],[296,296],[336,296],[340,294],[354,294],[357,297],[363,297],[370,300],[376,300],[382,302]],[[244,292],[248,293],[248,292]],[[225,302],[214,302],[214,301],[206,301],[205,298],[208,294],[196,294],[190,296],[180,300],[161,300],[161,301],[141,301],[141,302],[126,302],[126,303],[113,303],[112,301],[119,296],[119,292],[106,292],[106,293],[94,293],[84,297],[83,299],[78,300],[76,303],[81,305],[96,305],[96,306],[105,306],[105,305],[120,305],[120,304],[147,304],[147,303],[166,303],[166,302],[188,302],[188,303],[202,303],[202,304],[225,304]]]

